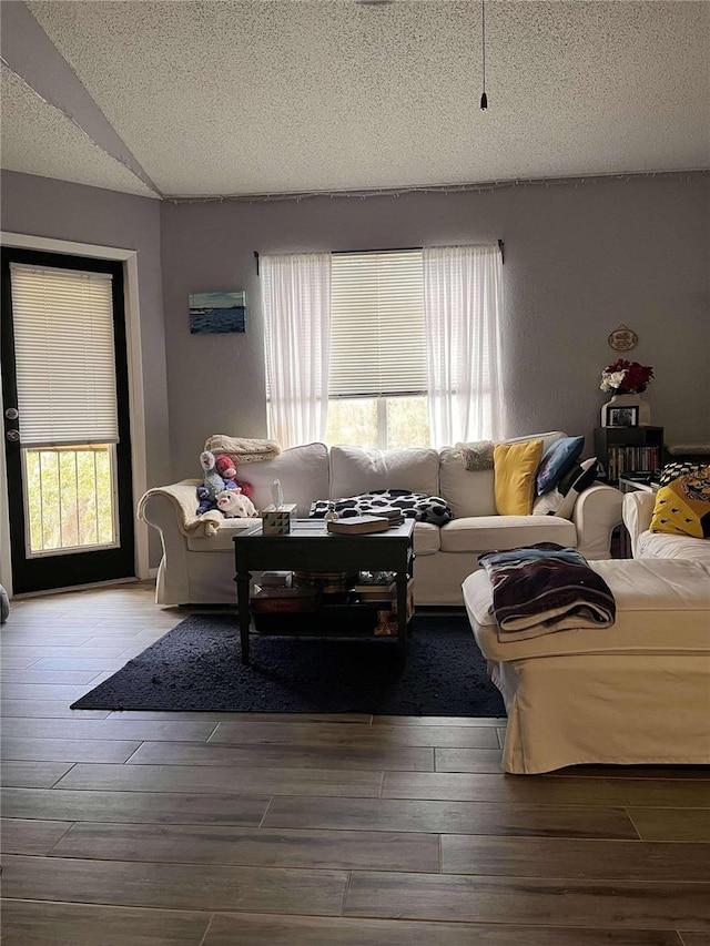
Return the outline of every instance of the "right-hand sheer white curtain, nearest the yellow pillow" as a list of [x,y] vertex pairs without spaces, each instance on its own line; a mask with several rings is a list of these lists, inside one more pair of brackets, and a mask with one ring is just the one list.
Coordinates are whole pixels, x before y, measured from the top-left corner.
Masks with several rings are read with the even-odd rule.
[[432,445],[504,436],[500,250],[424,250]]

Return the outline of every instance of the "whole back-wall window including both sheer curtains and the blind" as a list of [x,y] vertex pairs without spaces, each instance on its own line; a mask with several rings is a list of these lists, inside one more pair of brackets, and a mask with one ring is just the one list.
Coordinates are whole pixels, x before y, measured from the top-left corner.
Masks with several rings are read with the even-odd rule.
[[264,256],[270,433],[381,449],[499,438],[498,246]]

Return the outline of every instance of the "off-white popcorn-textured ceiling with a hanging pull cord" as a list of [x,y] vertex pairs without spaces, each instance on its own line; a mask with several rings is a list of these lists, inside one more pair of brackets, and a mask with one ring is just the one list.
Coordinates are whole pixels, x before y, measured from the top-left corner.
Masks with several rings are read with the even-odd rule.
[[[487,111],[480,2],[26,6],[67,90],[80,80],[134,162],[95,130],[81,140],[89,118],[62,82],[38,89],[47,57],[33,62],[37,37],[16,28],[2,48],[10,170],[220,196],[710,165],[709,2],[487,0]],[[30,52],[13,61],[16,37]]]

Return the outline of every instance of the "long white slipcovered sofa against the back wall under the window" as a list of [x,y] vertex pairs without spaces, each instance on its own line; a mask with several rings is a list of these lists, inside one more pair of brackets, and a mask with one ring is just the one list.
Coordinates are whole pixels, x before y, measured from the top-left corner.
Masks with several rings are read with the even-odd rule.
[[[515,441],[541,439],[544,450],[566,435],[530,435]],[[462,582],[478,568],[478,556],[552,541],[574,546],[587,559],[609,558],[611,532],[621,522],[621,494],[594,485],[577,500],[571,521],[556,516],[498,516],[494,471],[466,470],[459,451],[412,448],[379,451],[323,444],[284,450],[274,459],[244,464],[240,479],[251,482],[257,509],[271,502],[274,479],[284,500],[297,503],[306,518],[317,499],[339,499],[377,489],[405,489],[440,496],[454,519],[443,527],[417,522],[414,536],[415,601],[418,604],[462,606]],[[159,530],[163,557],[156,584],[161,604],[234,603],[234,530],[254,520],[201,521],[196,479],[149,490],[139,503],[139,518]],[[207,513],[210,515],[210,513]],[[204,518],[204,517],[203,517]],[[294,566],[297,563],[294,562]]]

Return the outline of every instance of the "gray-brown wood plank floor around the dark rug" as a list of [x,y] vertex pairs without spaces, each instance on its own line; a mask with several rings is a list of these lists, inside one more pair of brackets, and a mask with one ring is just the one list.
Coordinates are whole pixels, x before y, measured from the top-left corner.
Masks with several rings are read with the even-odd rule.
[[710,944],[710,770],[505,775],[505,720],[69,709],[187,613],[12,602],[3,946]]

